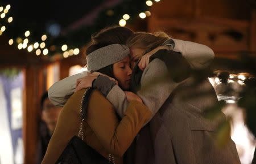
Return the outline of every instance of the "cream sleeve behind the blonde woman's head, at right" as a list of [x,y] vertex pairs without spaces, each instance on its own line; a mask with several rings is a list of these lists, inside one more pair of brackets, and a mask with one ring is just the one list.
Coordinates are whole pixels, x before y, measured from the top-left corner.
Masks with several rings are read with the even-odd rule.
[[191,41],[173,39],[175,43],[174,51],[180,52],[194,69],[209,66],[214,58],[214,52],[206,45],[197,44]]

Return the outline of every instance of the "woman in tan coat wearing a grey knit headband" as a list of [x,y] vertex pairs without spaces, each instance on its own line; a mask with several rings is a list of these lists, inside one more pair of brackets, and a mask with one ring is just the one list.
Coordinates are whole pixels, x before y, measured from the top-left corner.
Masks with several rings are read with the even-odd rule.
[[[92,45],[87,56],[88,69],[108,74],[104,69],[112,69],[108,76],[117,79],[122,89],[129,88],[131,68],[130,50],[125,45]],[[96,60],[97,59],[97,60]],[[112,76],[113,75],[113,76]],[[103,81],[109,77],[100,76]],[[115,81],[108,81],[115,85]],[[42,163],[55,163],[72,136],[77,135],[80,125],[80,104],[86,90],[73,94],[61,110],[55,131]],[[113,163],[123,163],[123,154],[151,116],[150,110],[142,102],[130,101],[125,116],[119,122],[111,103],[97,90],[90,94],[85,124],[85,143],[97,150]]]

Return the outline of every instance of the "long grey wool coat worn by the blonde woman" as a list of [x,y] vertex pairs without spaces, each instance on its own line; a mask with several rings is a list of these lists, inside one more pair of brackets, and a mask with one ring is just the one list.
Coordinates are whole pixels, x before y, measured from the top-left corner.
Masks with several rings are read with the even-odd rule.
[[[155,76],[167,73],[164,62],[154,59],[144,70],[141,80],[142,88],[146,83],[156,79]],[[159,73],[160,72],[160,73]],[[191,86],[193,78],[177,84],[166,80],[137,94],[152,111],[151,121],[139,132],[136,139],[136,164],[236,164],[240,163],[236,146],[228,138],[224,147],[216,144],[217,127],[225,121],[220,112],[217,119],[208,120],[203,116],[205,108],[216,103],[217,96],[208,79]],[[196,97],[197,93],[207,95]],[[184,96],[192,96],[185,99]],[[122,116],[126,109],[126,97],[116,85],[107,98]]]

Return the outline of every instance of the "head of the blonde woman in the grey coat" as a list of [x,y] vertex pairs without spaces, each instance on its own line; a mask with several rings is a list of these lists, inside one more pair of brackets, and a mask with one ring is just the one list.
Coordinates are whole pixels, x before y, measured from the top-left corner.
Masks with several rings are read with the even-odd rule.
[[126,42],[126,45],[131,50],[131,65],[138,61],[142,55],[161,46],[170,37],[164,32],[136,32]]

